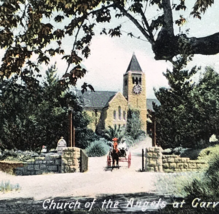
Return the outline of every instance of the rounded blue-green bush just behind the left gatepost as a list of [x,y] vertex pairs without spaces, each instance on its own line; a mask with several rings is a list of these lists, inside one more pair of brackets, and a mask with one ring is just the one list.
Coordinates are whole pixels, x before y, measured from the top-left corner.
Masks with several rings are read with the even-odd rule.
[[105,140],[96,140],[88,146],[85,151],[88,157],[101,157],[108,153],[109,146]]

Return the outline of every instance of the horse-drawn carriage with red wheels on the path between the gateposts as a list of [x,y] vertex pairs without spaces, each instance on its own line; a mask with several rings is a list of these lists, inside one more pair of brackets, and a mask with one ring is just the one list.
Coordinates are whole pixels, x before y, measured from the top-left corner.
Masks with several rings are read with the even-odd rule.
[[119,167],[119,162],[127,162],[129,168],[131,166],[131,152],[127,155],[127,151],[127,147],[124,146],[120,146],[118,149],[115,147],[110,149],[109,154],[107,155],[107,167]]

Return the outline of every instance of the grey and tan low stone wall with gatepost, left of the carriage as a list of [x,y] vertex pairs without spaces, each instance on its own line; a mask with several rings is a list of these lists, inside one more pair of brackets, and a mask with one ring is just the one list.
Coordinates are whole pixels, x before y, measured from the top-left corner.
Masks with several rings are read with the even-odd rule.
[[68,147],[63,149],[62,155],[47,153],[26,162],[0,161],[0,170],[15,175],[86,172],[88,156],[80,148]]

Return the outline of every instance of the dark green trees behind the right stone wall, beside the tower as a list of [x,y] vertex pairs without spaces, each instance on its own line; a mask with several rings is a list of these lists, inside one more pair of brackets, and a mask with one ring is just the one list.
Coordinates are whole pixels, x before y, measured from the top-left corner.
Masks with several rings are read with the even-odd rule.
[[161,105],[154,104],[157,143],[163,148],[208,146],[218,133],[219,75],[206,68],[198,83],[192,82],[198,69],[184,70],[186,58],[173,62],[173,71],[164,76],[169,88],[155,92]]

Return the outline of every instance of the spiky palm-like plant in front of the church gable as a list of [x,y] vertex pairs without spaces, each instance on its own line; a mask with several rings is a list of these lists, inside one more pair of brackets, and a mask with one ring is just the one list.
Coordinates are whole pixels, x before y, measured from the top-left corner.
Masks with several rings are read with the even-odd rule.
[[125,129],[121,128],[120,126],[114,126],[114,128],[109,126],[109,128],[103,132],[103,137],[109,141],[112,141],[112,139],[116,137],[118,138],[118,142],[120,142],[124,134]]

